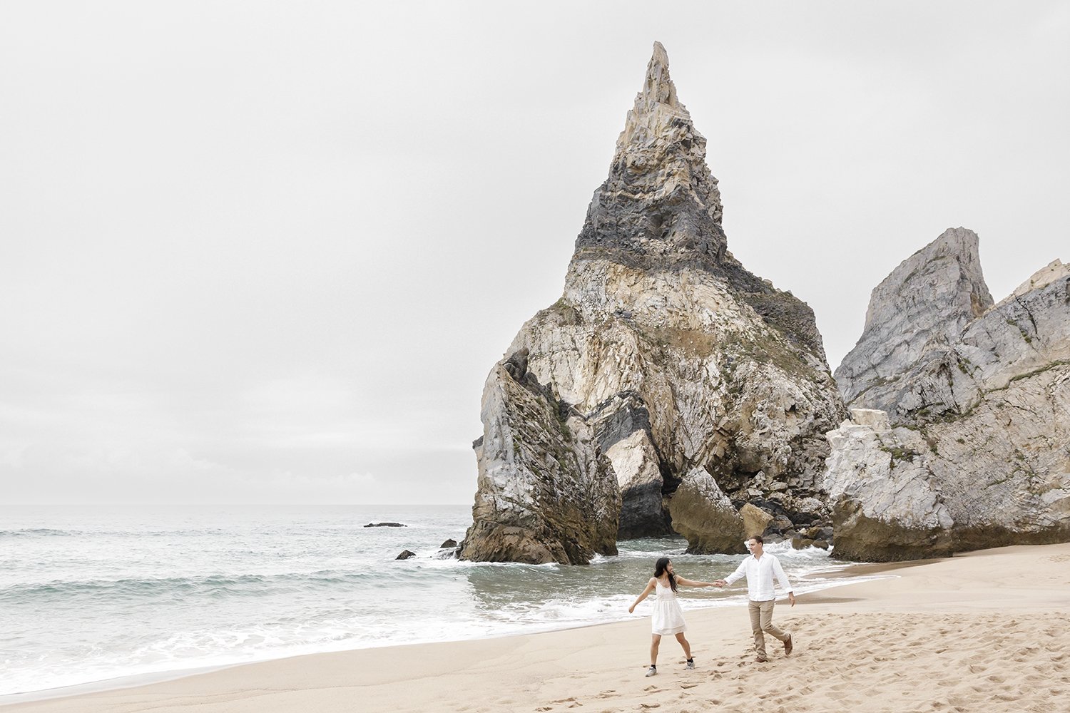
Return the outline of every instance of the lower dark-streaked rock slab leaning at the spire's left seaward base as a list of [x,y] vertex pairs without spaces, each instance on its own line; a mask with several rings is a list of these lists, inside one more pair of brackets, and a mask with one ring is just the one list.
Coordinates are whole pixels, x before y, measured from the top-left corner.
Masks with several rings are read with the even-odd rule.
[[465,559],[586,563],[616,554],[621,496],[586,420],[528,371],[494,367],[483,392],[479,483]]

